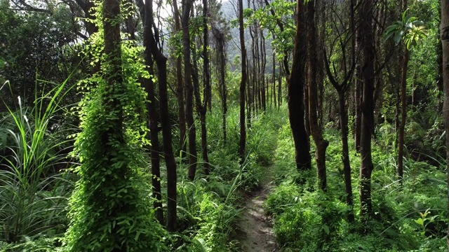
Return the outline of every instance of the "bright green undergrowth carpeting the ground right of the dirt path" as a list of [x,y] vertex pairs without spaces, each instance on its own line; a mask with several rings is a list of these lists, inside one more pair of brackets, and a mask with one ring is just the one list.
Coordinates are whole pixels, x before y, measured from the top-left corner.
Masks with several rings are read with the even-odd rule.
[[[394,132],[382,125],[373,144],[373,219],[358,219],[360,156],[350,153],[355,223],[347,221],[339,132],[327,130],[328,190],[316,187],[316,169],[297,172],[290,127],[283,125],[275,152],[276,188],[264,204],[274,216],[274,233],[282,251],[445,251],[447,189],[445,164],[406,158],[403,186],[396,181]],[[353,142],[349,146],[354,146]],[[314,146],[312,146],[312,152]],[[313,155],[313,153],[312,153]],[[440,159],[436,159],[440,160]]]

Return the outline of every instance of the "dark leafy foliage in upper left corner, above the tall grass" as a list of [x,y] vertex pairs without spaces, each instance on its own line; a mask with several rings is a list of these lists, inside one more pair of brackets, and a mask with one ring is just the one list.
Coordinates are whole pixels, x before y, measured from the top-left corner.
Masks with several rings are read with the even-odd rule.
[[[11,80],[13,97],[6,90],[1,90],[1,95],[9,106],[18,95],[24,104],[32,106],[34,93],[48,88],[39,80],[62,83],[79,63],[72,47],[79,25],[72,20],[71,10],[65,4],[53,6],[52,15],[48,15],[14,10],[10,3],[13,4],[9,0],[0,1],[0,85]],[[67,81],[74,83],[74,76]]]

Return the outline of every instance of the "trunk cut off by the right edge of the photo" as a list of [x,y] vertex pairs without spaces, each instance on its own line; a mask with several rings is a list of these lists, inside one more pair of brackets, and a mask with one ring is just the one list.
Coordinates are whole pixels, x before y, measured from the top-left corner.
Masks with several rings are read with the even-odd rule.
[[[449,181],[449,0],[441,0],[441,44],[443,45],[443,83],[444,83],[444,104],[443,122],[446,131],[446,167]],[[449,183],[448,183],[449,192]],[[448,193],[449,197],[449,193]],[[449,210],[449,201],[448,201]],[[449,211],[448,211],[449,213]],[[449,214],[448,214],[449,215]],[[449,248],[449,225],[447,244]]]

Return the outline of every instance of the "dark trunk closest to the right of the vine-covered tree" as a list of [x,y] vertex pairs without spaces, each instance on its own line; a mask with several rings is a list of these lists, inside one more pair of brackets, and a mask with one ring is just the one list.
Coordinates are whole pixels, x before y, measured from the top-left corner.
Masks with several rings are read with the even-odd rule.
[[[147,6],[145,6],[147,8]],[[149,40],[152,29],[152,20],[149,18],[149,13],[145,10],[145,14],[142,17],[144,19],[144,30],[143,30],[143,44],[145,46],[145,65],[147,71],[150,75],[154,74],[153,71],[153,57],[152,52],[149,48]],[[145,91],[148,94],[147,109],[149,118],[149,137],[151,141],[151,146],[149,146],[149,151],[151,154],[152,163],[152,186],[153,195],[156,197],[154,201],[154,209],[156,220],[163,225],[163,209],[162,209],[162,195],[161,195],[161,171],[160,171],[160,161],[159,161],[159,137],[158,137],[158,118],[159,111],[156,110],[156,97],[154,94],[154,83],[152,78],[144,78],[143,84],[145,86]]]

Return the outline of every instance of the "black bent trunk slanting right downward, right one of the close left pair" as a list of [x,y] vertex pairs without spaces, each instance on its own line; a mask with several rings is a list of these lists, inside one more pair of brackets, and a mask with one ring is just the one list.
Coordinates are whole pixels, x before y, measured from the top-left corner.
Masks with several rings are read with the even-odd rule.
[[[147,0],[145,4],[145,16],[152,21],[153,19],[153,1]],[[173,156],[173,146],[171,138],[170,118],[168,117],[168,94],[167,94],[167,58],[162,54],[161,48],[158,48],[156,39],[152,29],[149,29],[149,51],[152,52],[154,60],[158,68],[158,83],[159,83],[159,107],[161,110],[161,126],[162,126],[162,141],[163,141],[163,156],[167,167],[167,230],[169,232],[176,231],[176,162]]]

